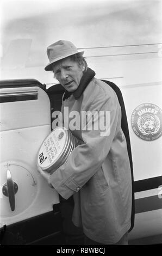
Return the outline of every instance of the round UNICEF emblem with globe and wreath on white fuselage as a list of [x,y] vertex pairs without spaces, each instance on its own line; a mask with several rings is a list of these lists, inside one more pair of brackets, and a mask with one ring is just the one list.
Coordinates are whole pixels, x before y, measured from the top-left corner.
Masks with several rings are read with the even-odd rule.
[[145,141],[154,141],[162,135],[161,109],[152,103],[144,103],[136,107],[132,113],[131,124],[136,136]]

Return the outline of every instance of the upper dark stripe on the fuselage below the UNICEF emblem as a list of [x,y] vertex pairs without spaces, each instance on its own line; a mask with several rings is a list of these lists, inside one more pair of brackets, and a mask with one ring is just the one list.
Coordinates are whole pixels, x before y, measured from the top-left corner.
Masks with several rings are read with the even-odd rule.
[[162,176],[134,181],[134,192],[153,190],[162,185]]

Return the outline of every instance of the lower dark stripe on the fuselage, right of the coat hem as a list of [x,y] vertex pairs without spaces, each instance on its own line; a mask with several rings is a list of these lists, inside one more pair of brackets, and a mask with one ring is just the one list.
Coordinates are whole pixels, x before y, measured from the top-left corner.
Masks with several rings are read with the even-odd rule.
[[162,198],[156,196],[144,197],[135,200],[135,214],[145,211],[162,209]]

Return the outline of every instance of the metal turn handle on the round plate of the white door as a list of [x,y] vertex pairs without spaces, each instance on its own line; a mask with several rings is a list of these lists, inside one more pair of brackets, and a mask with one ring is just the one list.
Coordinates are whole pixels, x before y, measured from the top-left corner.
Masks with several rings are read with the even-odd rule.
[[18,186],[13,182],[10,170],[7,169],[7,183],[4,184],[2,191],[4,196],[9,197],[10,208],[12,211],[15,210],[15,194],[18,190]]

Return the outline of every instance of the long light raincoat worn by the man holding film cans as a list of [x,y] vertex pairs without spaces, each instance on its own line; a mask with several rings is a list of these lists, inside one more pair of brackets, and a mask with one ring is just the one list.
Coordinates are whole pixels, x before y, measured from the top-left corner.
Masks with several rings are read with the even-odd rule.
[[119,101],[108,84],[94,77],[79,99],[72,94],[63,102],[63,112],[64,107],[69,113],[110,111],[109,135],[81,127],[72,131],[84,144],[72,151],[49,181],[63,198],[74,196],[72,221],[83,227],[86,236],[99,243],[116,243],[130,228],[132,209],[131,172]]

